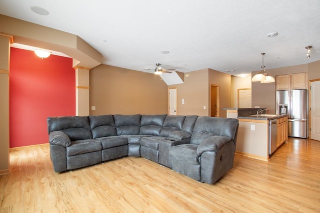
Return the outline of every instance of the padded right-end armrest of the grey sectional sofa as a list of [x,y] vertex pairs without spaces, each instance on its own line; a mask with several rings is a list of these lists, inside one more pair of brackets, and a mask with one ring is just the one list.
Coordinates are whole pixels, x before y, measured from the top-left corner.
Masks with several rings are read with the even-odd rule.
[[205,141],[199,144],[196,154],[200,156],[205,151],[217,151],[224,144],[231,141],[232,139],[226,136],[211,136],[208,137]]

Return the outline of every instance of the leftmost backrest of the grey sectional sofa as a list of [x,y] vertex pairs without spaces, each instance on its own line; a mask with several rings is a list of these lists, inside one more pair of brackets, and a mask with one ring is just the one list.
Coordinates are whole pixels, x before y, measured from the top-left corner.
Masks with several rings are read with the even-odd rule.
[[64,132],[71,141],[92,139],[87,116],[48,117],[46,122],[48,133],[53,131]]

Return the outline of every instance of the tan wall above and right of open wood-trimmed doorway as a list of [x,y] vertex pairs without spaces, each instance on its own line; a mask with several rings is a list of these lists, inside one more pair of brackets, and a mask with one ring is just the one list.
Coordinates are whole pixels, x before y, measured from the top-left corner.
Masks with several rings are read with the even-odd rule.
[[230,108],[231,75],[209,69],[208,83],[218,85],[220,87],[220,107],[218,109],[220,113],[219,117],[226,118],[226,110],[222,109]]

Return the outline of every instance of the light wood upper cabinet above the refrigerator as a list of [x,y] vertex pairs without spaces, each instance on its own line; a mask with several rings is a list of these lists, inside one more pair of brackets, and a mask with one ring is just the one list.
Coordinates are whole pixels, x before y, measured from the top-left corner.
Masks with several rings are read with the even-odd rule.
[[277,75],[275,76],[275,87],[276,90],[307,89],[307,80],[308,76],[306,72]]

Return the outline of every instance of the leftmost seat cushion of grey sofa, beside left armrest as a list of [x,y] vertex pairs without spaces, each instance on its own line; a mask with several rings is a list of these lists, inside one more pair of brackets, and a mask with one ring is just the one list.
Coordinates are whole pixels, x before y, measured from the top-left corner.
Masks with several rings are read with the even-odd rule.
[[101,151],[101,142],[93,139],[71,141],[66,148],[66,156],[79,155],[83,153]]

